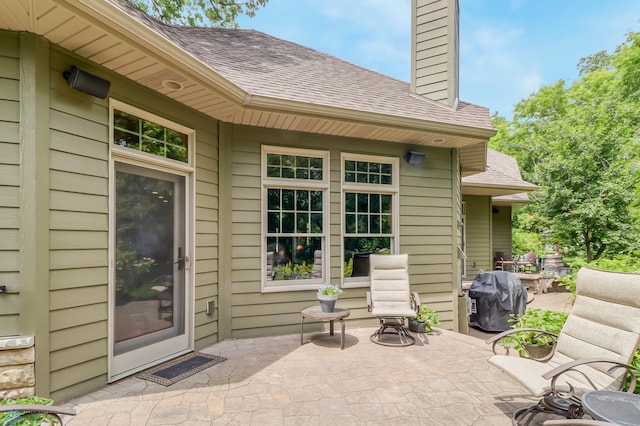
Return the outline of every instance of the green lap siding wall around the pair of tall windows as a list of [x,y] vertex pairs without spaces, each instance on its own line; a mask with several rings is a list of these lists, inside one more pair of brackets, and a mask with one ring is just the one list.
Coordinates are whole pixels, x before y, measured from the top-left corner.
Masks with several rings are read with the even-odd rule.
[[[341,153],[402,158],[407,145],[310,134],[234,127],[231,145],[231,327],[237,338],[295,333],[300,310],[316,304],[313,290],[261,292],[262,144],[330,151],[329,257],[332,282],[341,270]],[[346,149],[345,147],[348,147]],[[409,253],[411,284],[440,312],[444,327],[454,326],[452,242],[452,152],[420,147],[427,160],[409,166],[400,160],[400,252]],[[225,283],[226,284],[226,283]],[[374,325],[366,309],[366,288],[350,288],[339,306],[351,309],[353,325]]]

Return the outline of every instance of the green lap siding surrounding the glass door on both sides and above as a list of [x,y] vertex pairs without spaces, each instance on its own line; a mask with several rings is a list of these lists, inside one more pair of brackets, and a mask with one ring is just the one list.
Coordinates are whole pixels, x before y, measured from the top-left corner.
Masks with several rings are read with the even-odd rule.
[[[109,349],[109,105],[108,100],[68,88],[60,76],[71,64],[75,60],[64,52],[52,55],[50,305],[55,399],[105,385]],[[110,97],[196,130],[194,345],[199,349],[215,343],[216,317],[207,315],[205,308],[207,300],[218,303],[217,124],[118,76],[100,73],[111,80]]]

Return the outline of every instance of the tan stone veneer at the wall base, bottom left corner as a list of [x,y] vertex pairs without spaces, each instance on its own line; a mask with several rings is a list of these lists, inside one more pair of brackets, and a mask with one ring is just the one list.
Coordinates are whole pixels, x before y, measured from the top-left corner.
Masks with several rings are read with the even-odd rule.
[[35,393],[33,336],[0,337],[0,400]]

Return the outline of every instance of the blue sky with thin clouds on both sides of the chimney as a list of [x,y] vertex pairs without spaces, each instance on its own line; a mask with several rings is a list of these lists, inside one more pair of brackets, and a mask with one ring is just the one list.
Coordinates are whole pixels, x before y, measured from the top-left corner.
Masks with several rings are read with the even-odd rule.
[[[581,58],[640,31],[640,0],[459,0],[460,98],[511,118],[540,87],[579,78]],[[409,81],[411,0],[269,0],[238,20]]]

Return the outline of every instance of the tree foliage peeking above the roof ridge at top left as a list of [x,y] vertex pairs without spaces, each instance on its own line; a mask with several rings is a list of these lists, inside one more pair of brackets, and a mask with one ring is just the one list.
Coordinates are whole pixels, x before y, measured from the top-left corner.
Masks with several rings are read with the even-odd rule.
[[238,15],[253,17],[269,0],[130,0],[167,24],[237,28]]

